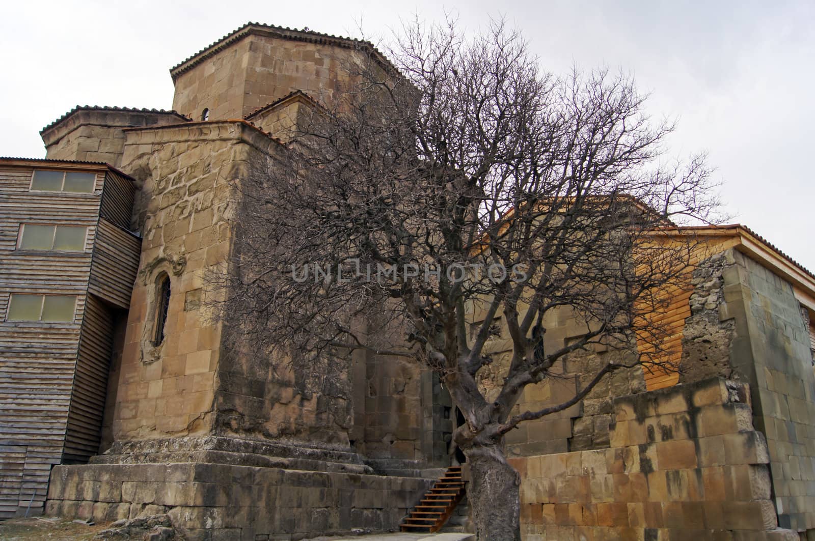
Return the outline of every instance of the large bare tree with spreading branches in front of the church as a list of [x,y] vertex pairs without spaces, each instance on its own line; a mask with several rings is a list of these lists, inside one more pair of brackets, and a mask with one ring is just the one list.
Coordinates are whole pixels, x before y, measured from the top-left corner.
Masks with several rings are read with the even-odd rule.
[[[520,539],[504,435],[665,358],[649,315],[694,240],[654,231],[711,218],[709,171],[703,156],[660,162],[672,125],[646,117],[629,77],[544,73],[501,21],[473,38],[407,25],[385,52],[393,66],[348,66],[349,85],[242,181],[225,313],[259,350],[299,363],[363,349],[438,372],[466,420],[454,439],[478,539]],[[554,310],[585,333],[547,349]],[[477,375],[498,315],[513,351],[487,398]],[[624,354],[571,400],[513,412],[526,385],[596,344]]]

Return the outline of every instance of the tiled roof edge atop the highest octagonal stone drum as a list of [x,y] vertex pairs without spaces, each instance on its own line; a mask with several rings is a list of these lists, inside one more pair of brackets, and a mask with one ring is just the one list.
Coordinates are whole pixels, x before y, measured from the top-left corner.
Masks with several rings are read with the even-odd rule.
[[205,46],[203,49],[196,52],[196,54],[183,60],[183,62],[174,65],[172,68],[170,68],[170,75],[175,81],[176,77],[187,70],[194,68],[204,59],[207,59],[209,56],[226,49],[233,43],[239,42],[250,33],[258,31],[269,33],[275,37],[281,37],[283,39],[289,39],[295,42],[324,43],[327,45],[345,47],[346,49],[355,49],[359,47],[361,49],[376,53],[376,56],[381,60],[382,64],[392,67],[390,62],[385,59],[385,56],[382,55],[382,53],[378,51],[371,42],[355,39],[353,37],[334,36],[333,34],[319,33],[308,28],[298,30],[290,29],[288,26],[284,28],[282,26],[275,26],[274,24],[249,22],[241,26],[239,29],[228,33],[217,42],[213,42],[210,43],[209,46]]

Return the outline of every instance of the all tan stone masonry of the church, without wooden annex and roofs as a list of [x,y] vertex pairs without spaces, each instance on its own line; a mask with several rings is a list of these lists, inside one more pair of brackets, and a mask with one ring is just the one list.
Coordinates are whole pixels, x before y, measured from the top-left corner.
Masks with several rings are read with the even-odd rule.
[[[49,158],[108,162],[136,180],[130,229],[143,240],[111,337],[100,454],[52,470],[47,512],[166,515],[208,540],[394,530],[427,468],[450,464],[460,420],[438,376],[363,352],[325,373],[251,356],[213,311],[228,292],[211,271],[239,261],[241,179],[287,152],[298,126],[337,105],[346,68],[371,60],[389,65],[365,42],[246,24],[170,70],[178,112],[77,107],[42,130]],[[525,539],[815,539],[815,304],[772,262],[722,250],[691,277],[681,385],[645,392],[641,369],[620,370],[507,434]],[[493,362],[478,373],[487,399],[511,351],[497,318]],[[585,332],[567,308],[544,328],[547,348]],[[572,398],[628,354],[563,358],[513,412]]]

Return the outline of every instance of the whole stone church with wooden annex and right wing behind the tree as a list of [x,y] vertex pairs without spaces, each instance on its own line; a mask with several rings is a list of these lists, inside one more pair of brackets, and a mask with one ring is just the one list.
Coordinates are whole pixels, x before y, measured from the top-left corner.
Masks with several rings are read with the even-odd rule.
[[[467,472],[436,376],[359,354],[350,393],[304,389],[226,354],[207,314],[232,185],[360,56],[389,64],[246,24],[170,69],[173,111],[73,108],[42,130],[44,159],[0,158],[0,519],[165,515],[190,539],[261,540],[455,512]],[[685,232],[712,255],[665,315],[681,372],[621,372],[508,434],[526,539],[815,539],[815,275],[747,227]],[[602,354],[518,407],[571,398]]]

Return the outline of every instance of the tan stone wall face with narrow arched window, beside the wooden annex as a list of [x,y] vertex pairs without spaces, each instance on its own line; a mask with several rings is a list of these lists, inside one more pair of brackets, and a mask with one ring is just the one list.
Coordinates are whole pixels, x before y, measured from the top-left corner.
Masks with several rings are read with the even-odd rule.
[[[122,167],[141,183],[143,237],[121,359],[116,440],[206,433],[212,425],[221,328],[206,317],[205,271],[230,249],[231,186],[245,161],[240,123],[129,130]],[[152,343],[156,279],[170,277],[161,345]],[[210,299],[211,300],[211,299]]]

